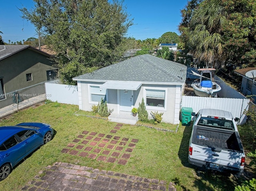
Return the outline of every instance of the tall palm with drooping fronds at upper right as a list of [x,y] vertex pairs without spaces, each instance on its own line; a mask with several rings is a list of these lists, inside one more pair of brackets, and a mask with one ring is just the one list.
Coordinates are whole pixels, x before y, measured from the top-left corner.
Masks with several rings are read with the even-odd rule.
[[188,46],[194,57],[218,68],[225,60],[222,49],[222,26],[226,10],[221,0],[205,0],[194,11],[190,21]]

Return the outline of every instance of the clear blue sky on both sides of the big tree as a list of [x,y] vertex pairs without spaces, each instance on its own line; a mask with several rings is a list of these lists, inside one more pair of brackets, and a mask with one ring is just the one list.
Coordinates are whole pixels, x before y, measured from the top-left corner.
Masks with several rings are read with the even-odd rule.
[[[33,0],[0,0],[0,31],[6,43],[38,38],[34,26],[21,18],[18,8],[34,6]],[[178,31],[181,22],[180,10],[187,0],[124,0],[126,11],[134,18],[134,25],[128,30],[127,37],[144,40],[159,38],[166,32]]]

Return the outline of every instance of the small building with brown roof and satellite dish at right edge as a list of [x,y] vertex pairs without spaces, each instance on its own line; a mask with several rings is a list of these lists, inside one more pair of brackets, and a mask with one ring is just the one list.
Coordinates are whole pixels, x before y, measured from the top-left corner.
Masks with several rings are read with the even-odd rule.
[[[254,72],[254,77],[252,75]],[[253,95],[254,103],[256,102],[256,67],[237,69],[234,73],[242,76],[241,92],[247,95]]]

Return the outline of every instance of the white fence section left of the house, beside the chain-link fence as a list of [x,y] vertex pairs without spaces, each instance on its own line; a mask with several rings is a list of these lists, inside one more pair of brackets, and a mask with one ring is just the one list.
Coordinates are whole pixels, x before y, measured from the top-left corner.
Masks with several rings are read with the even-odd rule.
[[78,105],[78,89],[74,85],[64,85],[52,80],[45,83],[46,99],[58,103]]

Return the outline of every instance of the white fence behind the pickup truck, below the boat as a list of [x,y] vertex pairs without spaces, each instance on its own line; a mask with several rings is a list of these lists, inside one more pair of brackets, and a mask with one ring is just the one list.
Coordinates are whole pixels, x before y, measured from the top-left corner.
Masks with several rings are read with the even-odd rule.
[[202,108],[226,110],[232,113],[233,117],[240,118],[239,124],[246,123],[244,110],[248,110],[250,100],[238,98],[211,98],[199,96],[182,96],[181,108],[190,107],[197,113]]

